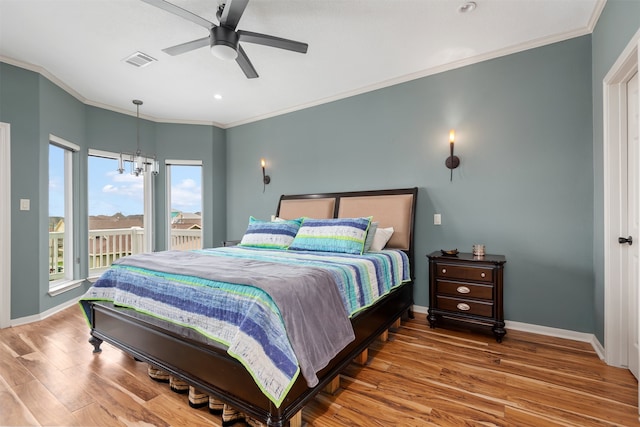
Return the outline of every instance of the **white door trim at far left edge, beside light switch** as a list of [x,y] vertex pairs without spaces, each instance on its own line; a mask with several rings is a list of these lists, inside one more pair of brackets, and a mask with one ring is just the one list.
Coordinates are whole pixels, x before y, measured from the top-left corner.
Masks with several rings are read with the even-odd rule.
[[11,324],[11,126],[0,122],[0,328]]

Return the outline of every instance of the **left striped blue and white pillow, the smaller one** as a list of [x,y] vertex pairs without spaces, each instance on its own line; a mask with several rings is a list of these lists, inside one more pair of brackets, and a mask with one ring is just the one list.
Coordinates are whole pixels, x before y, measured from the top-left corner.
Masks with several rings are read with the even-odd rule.
[[302,218],[270,222],[250,217],[247,231],[242,236],[240,246],[286,249],[296,237],[301,223]]

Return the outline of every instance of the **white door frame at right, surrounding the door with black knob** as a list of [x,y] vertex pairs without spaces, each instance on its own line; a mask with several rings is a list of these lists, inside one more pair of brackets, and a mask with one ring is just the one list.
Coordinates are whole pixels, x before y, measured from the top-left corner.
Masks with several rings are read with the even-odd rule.
[[[604,344],[605,362],[627,366],[628,309],[623,278],[628,277],[625,249],[618,243],[626,236],[626,83],[638,72],[640,30],[622,51],[603,85],[604,167]],[[640,236],[634,236],[639,240]]]

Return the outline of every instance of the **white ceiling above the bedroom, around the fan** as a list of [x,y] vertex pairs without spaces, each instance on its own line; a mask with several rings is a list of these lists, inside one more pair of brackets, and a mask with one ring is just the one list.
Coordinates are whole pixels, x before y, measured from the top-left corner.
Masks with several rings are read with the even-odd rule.
[[[171,0],[217,23],[221,0]],[[201,48],[207,36],[140,0],[0,0],[0,60],[81,101],[157,121],[232,127],[588,34],[605,0],[250,0],[238,29],[306,42],[306,54],[243,43],[260,75]],[[158,61],[123,61],[140,51]],[[214,94],[222,95],[221,100]]]

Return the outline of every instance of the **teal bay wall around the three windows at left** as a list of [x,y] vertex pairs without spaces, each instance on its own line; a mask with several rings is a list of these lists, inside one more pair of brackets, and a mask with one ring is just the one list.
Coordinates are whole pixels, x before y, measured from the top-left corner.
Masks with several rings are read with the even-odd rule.
[[[133,105],[132,105],[133,107]],[[133,110],[133,108],[132,108]],[[0,63],[0,121],[11,125],[11,318],[42,313],[82,295],[89,286],[48,295],[48,150],[53,134],[80,147],[75,160],[74,216],[81,230],[87,221],[88,149],[131,151],[135,148],[135,116],[87,106],[39,74]],[[141,120],[140,147],[167,158],[203,161],[204,244],[219,244],[226,235],[226,146],[224,130],[213,126],[160,124]],[[132,141],[133,144],[132,145]],[[164,167],[163,167],[164,169]],[[156,250],[165,249],[162,175],[155,179]],[[19,200],[31,210],[20,211]],[[79,277],[88,272],[87,240],[75,239]],[[41,266],[41,267],[38,267]]]

